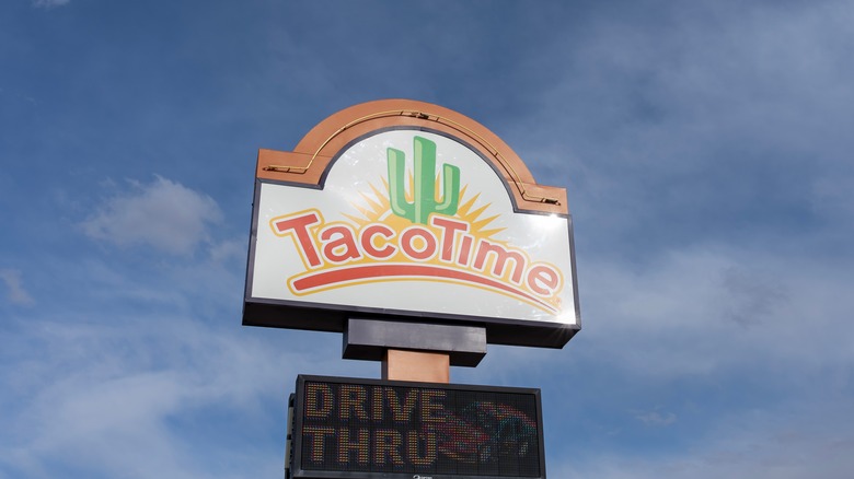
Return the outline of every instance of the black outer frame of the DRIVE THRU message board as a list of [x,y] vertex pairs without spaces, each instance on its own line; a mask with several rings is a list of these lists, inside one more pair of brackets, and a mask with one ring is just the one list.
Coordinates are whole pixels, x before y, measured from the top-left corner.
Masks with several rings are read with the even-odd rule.
[[[473,394],[512,394],[512,395],[530,395],[534,401],[534,412],[536,418],[533,420],[536,422],[536,436],[538,442],[538,467],[539,476],[497,476],[497,475],[475,475],[475,474],[439,474],[439,472],[418,472],[418,471],[347,471],[347,470],[333,470],[333,469],[305,469],[302,465],[304,437],[302,434],[304,424],[304,409],[305,401],[303,394],[305,390],[305,383],[328,383],[338,385],[356,385],[356,386],[378,386],[378,387],[406,387],[406,388],[420,388],[420,389],[442,389],[442,390],[458,390],[462,393]],[[316,376],[316,375],[298,375],[297,387],[295,390],[295,404],[293,404],[293,429],[288,433],[292,435],[292,454],[290,456],[290,463],[286,465],[286,468],[290,472],[290,478],[295,479],[328,479],[328,478],[342,478],[342,479],[373,479],[382,477],[383,479],[412,479],[414,477],[420,477],[423,479],[545,479],[545,442],[543,434],[543,409],[541,390],[539,388],[528,387],[505,387],[505,386],[482,386],[482,385],[463,385],[463,384],[447,384],[447,383],[423,383],[423,382],[408,382],[408,381],[384,381],[384,379],[365,379],[353,377],[336,377],[336,376]]]

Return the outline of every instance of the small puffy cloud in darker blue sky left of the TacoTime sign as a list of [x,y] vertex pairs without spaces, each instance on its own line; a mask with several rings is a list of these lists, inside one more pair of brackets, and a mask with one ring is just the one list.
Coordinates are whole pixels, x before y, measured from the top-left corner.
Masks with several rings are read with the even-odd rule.
[[212,198],[158,176],[150,185],[131,183],[82,227],[90,237],[118,246],[149,245],[178,255],[206,241],[208,226],[220,219]]

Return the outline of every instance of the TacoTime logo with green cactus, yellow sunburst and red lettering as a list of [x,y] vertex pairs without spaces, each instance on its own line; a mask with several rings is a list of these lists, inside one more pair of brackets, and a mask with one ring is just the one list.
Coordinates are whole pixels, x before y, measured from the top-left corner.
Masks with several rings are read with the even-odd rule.
[[[362,192],[361,213],[326,222],[318,209],[270,220],[273,232],[290,237],[305,271],[288,279],[295,295],[381,281],[439,281],[480,288],[559,311],[563,274],[496,238],[497,215],[482,218],[480,194],[460,187],[460,168],[443,164],[436,174],[436,143],[415,137],[413,172],[406,155],[386,149],[389,178]],[[408,187],[407,187],[408,186]]]

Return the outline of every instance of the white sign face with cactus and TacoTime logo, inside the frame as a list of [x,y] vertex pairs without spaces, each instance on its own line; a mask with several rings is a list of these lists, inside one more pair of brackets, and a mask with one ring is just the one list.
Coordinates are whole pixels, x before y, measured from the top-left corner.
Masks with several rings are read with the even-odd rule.
[[569,219],[513,211],[468,145],[357,141],[323,189],[261,183],[247,301],[576,326]]

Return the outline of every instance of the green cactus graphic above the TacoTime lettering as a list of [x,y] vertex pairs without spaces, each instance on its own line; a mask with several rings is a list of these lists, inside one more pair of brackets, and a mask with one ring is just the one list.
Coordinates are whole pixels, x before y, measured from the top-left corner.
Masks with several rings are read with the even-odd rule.
[[453,215],[460,200],[460,168],[442,165],[442,198],[436,199],[436,143],[415,137],[413,202],[406,201],[404,173],[406,154],[393,148],[386,149],[389,157],[389,199],[392,212],[413,223],[427,224],[430,213]]

